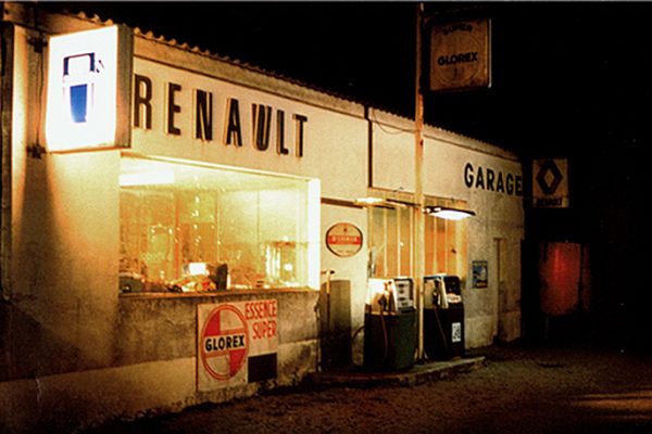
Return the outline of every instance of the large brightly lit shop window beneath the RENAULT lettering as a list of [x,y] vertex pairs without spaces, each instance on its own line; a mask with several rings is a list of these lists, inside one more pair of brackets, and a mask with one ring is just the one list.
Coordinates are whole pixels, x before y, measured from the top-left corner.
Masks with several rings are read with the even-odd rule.
[[123,157],[120,183],[122,292],[309,286],[311,181]]

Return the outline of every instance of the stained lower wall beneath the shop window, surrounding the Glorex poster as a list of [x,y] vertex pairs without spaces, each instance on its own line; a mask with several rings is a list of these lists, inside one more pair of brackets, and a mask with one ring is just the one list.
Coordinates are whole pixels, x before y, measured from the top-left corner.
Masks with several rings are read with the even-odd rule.
[[[197,306],[268,298],[278,303],[277,378],[198,392]],[[70,360],[60,372],[54,372],[52,360],[63,359],[67,354],[64,347],[49,342],[49,354],[28,356],[33,358],[22,358],[21,362],[29,365],[25,361],[47,356],[42,365],[51,373],[14,375],[15,379],[0,382],[0,426],[9,433],[39,429],[67,431],[110,419],[133,419],[146,413],[178,411],[204,401],[251,396],[261,387],[296,385],[316,367],[314,307],[317,298],[318,293],[314,291],[121,297],[111,333],[113,339],[98,339],[98,343],[111,348],[110,366],[85,369]],[[7,312],[0,314],[4,317]],[[20,331],[25,341],[35,344],[46,340],[39,327],[33,330],[16,327],[24,317],[14,316],[15,321],[9,324],[13,333]],[[297,321],[297,318],[302,320]],[[83,342],[75,345],[78,350],[85,349]],[[18,360],[12,365],[18,365]]]

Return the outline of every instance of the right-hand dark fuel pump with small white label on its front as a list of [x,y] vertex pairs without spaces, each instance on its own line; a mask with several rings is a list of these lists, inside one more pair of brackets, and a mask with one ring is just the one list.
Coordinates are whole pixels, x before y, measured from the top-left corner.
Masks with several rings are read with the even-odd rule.
[[464,304],[460,278],[424,278],[424,350],[430,360],[464,356]]

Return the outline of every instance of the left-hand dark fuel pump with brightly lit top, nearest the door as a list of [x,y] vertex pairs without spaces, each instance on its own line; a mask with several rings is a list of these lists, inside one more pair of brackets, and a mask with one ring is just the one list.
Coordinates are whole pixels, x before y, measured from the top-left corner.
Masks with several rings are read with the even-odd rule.
[[412,279],[369,279],[365,309],[364,367],[378,370],[411,368],[416,347]]

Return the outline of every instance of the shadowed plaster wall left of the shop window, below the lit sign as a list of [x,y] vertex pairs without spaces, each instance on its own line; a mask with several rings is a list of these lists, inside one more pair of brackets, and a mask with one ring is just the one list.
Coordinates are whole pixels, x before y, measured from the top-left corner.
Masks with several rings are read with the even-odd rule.
[[[27,156],[42,119],[35,103],[41,60],[26,43],[29,36],[16,28],[12,301],[43,327],[41,339],[70,349],[57,366],[104,365],[112,350],[117,288],[120,155]],[[48,357],[48,347],[35,354]]]

